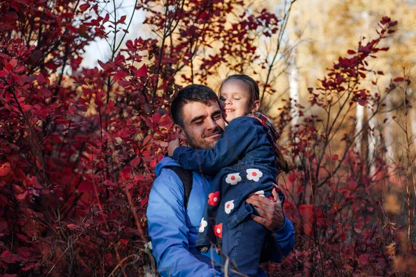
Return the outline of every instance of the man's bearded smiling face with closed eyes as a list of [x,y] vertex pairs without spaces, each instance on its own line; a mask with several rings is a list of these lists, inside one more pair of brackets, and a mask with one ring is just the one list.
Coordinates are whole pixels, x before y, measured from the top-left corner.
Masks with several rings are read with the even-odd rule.
[[214,148],[223,136],[225,123],[217,101],[209,105],[189,102],[182,109],[184,134],[192,148]]

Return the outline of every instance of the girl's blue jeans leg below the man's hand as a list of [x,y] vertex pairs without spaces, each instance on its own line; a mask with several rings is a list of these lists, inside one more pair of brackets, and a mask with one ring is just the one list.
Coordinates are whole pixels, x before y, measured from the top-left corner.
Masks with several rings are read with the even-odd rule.
[[221,264],[229,258],[229,276],[258,276],[261,250],[268,229],[252,220],[250,215],[240,224],[223,234]]

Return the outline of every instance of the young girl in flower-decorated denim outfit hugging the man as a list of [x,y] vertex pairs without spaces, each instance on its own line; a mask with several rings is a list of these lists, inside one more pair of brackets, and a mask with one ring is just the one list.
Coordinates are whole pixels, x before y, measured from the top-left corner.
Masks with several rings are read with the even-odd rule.
[[248,276],[257,276],[268,230],[252,220],[250,214],[257,212],[245,199],[272,197],[278,169],[288,170],[277,149],[279,134],[259,106],[257,83],[247,75],[231,75],[220,86],[220,107],[229,124],[215,148],[178,147],[177,140],[169,145],[169,156],[183,168],[216,174],[196,246],[204,251],[216,244],[225,253],[222,261],[228,257]]

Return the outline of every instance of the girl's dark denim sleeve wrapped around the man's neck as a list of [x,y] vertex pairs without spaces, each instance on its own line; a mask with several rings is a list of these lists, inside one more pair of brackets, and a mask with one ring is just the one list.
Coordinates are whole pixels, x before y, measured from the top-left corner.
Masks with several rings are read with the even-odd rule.
[[257,143],[259,129],[250,120],[253,119],[246,116],[232,120],[215,148],[204,150],[181,146],[173,152],[173,159],[187,170],[204,174],[218,172],[241,159]]

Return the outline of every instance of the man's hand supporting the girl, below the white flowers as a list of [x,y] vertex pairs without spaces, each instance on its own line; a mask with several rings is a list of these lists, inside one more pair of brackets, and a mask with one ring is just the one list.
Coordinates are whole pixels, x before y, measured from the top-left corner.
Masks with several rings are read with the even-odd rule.
[[[255,222],[263,224],[270,231],[276,231],[284,224],[284,215],[281,209],[281,201],[279,194],[275,188],[272,190],[272,195],[275,201],[259,195],[251,195],[245,202],[252,204],[257,209],[258,215],[252,215]],[[277,188],[279,189],[279,188]]]

